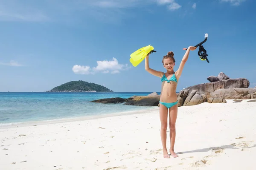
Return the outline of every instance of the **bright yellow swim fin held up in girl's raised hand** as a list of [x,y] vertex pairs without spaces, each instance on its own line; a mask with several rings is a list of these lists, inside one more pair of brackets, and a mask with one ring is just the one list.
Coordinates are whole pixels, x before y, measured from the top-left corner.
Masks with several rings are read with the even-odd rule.
[[131,64],[136,67],[137,65],[140,64],[140,62],[142,62],[145,57],[152,52],[157,52],[154,51],[154,47],[151,45],[145,46],[143,48],[138,49],[137,51],[134,51],[131,55],[130,55],[130,62]]

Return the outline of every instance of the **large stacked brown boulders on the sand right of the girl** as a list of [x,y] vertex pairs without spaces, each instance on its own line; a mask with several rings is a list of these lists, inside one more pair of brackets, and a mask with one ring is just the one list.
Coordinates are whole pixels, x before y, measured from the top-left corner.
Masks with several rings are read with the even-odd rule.
[[230,79],[223,72],[218,77],[209,76],[210,82],[183,89],[177,95],[178,107],[198,105],[203,102],[226,103],[225,99],[256,99],[256,88],[248,88],[245,78]]

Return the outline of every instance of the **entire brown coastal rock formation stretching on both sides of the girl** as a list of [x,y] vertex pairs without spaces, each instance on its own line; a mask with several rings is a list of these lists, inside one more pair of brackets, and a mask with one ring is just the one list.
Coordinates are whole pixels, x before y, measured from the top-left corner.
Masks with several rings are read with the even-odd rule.
[[[245,78],[230,79],[220,72],[218,77],[210,76],[210,82],[193,85],[177,93],[177,106],[199,105],[203,102],[226,103],[226,99],[256,99],[256,87],[248,88],[250,82]],[[109,98],[92,102],[120,103],[136,106],[159,106],[160,95],[156,92],[148,96],[131,96],[128,99]]]

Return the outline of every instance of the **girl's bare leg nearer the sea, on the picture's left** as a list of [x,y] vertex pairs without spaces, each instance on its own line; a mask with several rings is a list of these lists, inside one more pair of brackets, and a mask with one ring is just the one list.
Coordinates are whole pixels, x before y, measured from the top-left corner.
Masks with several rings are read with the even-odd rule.
[[161,141],[163,145],[163,157],[170,158],[167,148],[166,148],[166,130],[167,130],[167,119],[168,119],[168,109],[160,104],[159,106],[160,111],[160,121],[161,121]]

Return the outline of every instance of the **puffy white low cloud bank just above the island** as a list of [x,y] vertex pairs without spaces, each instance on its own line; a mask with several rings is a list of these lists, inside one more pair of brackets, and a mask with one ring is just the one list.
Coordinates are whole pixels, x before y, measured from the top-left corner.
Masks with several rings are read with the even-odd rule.
[[119,64],[117,59],[113,57],[113,60],[97,61],[97,66],[90,68],[90,66],[74,65],[72,70],[75,74],[95,74],[96,72],[102,72],[104,74],[120,73],[120,70],[128,69],[128,64]]

